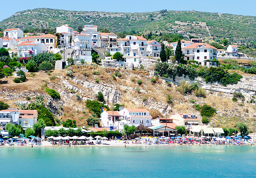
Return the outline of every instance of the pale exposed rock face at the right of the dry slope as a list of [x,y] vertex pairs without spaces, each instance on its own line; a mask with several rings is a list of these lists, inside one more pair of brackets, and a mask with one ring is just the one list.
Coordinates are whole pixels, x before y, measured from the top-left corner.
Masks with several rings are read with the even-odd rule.
[[243,95],[250,97],[250,95],[256,95],[256,77],[253,75],[242,75],[243,78],[237,84],[227,85],[226,87],[221,85],[220,83],[206,83],[203,78],[197,77],[195,80],[190,80],[188,76],[184,77],[177,76],[175,77],[175,81],[172,78],[165,78],[167,81],[171,81],[177,85],[179,85],[180,81],[185,79],[189,83],[198,83],[200,87],[205,90],[215,91],[215,92],[223,92],[223,93],[234,93],[241,92]]

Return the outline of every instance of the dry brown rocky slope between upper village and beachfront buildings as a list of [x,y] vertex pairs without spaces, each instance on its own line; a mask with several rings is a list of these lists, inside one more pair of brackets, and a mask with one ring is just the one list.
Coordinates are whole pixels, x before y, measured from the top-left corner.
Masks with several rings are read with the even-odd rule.
[[[255,95],[254,75],[244,76],[241,82],[233,87],[203,83],[207,96],[199,98],[194,93],[187,96],[180,94],[176,84],[167,84],[160,78],[156,78],[156,82],[152,83],[151,78],[155,77],[152,69],[151,67],[148,70],[118,70],[99,66],[72,66],[73,78],[65,74],[68,69],[52,71],[50,76],[56,76],[55,80],[50,80],[50,76],[45,72],[36,72],[35,76],[27,74],[28,80],[25,83],[14,83],[12,76],[1,79],[0,101],[8,103],[10,108],[17,108],[15,103],[31,102],[26,100],[26,96],[30,96],[33,100],[36,95],[43,95],[56,118],[62,118],[62,121],[68,118],[75,119],[79,126],[84,126],[86,118],[90,115],[85,103],[87,99],[96,100],[95,95],[101,91],[109,108],[116,103],[129,108],[143,107],[150,110],[153,118],[163,117],[165,113],[168,117],[172,112],[195,113],[201,118],[200,112],[195,110],[193,105],[202,106],[206,103],[217,110],[217,115],[211,118],[212,125],[229,127],[235,126],[236,122],[246,122],[250,128],[253,128],[252,125],[256,124],[256,106],[255,103],[249,102],[251,95]],[[100,74],[93,75],[94,71]],[[121,76],[116,76],[116,80],[112,77],[114,72],[121,73]],[[99,79],[98,83],[95,82],[96,79]],[[142,84],[139,85],[137,80],[142,80]],[[243,87],[250,90],[247,86],[249,84],[252,90],[244,91]],[[61,99],[53,100],[41,88],[42,85],[58,91]],[[244,100],[232,101],[232,91],[236,88],[249,93],[245,95]],[[81,96],[81,101],[76,99],[77,94]],[[173,104],[167,103],[167,95],[171,96]],[[191,103],[192,99],[195,103]]]

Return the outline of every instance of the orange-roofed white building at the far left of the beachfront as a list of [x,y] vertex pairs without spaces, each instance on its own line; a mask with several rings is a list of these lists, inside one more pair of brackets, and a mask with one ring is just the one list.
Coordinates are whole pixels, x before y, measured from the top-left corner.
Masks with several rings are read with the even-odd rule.
[[0,126],[4,127],[7,123],[13,123],[26,128],[32,128],[37,123],[37,110],[1,110]]

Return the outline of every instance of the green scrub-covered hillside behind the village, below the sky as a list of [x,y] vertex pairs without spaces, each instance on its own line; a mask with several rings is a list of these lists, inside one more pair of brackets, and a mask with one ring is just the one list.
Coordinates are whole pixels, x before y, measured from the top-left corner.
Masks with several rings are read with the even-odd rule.
[[114,32],[160,33],[184,31],[196,37],[256,38],[256,17],[199,11],[161,10],[144,13],[87,12],[48,8],[23,10],[0,22],[0,28],[56,28],[94,24]]

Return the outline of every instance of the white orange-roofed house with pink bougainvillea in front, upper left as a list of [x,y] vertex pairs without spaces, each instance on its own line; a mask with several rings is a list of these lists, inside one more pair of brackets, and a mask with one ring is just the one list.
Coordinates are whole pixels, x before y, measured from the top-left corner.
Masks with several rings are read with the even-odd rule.
[[[35,56],[38,53],[47,51],[47,46],[45,44],[37,44],[35,41],[24,41],[18,44],[18,56],[19,57],[29,57]],[[31,51],[31,54],[30,54]]]

